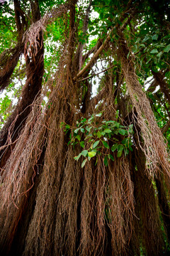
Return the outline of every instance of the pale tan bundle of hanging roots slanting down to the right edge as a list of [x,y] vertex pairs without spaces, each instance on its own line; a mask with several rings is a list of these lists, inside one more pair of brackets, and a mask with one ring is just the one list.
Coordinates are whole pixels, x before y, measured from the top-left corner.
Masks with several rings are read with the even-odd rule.
[[[164,137],[157,125],[149,100],[135,74],[132,53],[127,57],[130,50],[127,43],[125,43],[122,33],[120,33],[120,36],[118,54],[120,55],[128,92],[135,109],[133,109],[133,120],[135,125],[140,128],[142,135],[140,147],[145,152],[147,172],[149,176],[157,175],[157,171],[160,170],[159,166],[161,166],[169,186],[169,158]],[[140,134],[138,134],[138,138],[140,138]]]

